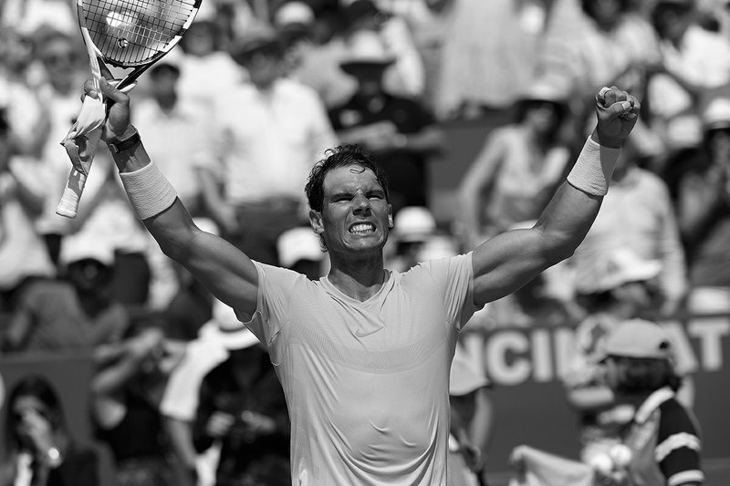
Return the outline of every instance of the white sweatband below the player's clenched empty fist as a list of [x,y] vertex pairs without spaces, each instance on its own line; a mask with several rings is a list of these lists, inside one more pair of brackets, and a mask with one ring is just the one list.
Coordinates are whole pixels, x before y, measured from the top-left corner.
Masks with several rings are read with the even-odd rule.
[[580,191],[605,196],[620,153],[620,149],[603,147],[589,137],[568,174],[568,182]]

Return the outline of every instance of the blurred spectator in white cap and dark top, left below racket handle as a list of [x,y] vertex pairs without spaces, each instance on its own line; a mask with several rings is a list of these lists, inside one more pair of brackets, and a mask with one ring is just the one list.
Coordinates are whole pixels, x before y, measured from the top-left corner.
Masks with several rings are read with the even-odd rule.
[[3,336],[5,352],[91,350],[119,341],[130,315],[112,293],[113,250],[69,238],[60,255],[65,279],[28,288]]

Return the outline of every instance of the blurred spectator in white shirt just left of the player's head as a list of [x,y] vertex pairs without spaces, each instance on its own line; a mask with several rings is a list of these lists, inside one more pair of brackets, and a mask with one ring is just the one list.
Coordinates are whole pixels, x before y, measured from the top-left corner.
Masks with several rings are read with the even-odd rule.
[[281,45],[271,28],[250,29],[232,49],[251,82],[215,108],[222,166],[202,171],[203,197],[224,238],[276,264],[276,238],[306,217],[301,185],[336,138],[317,94],[282,78]]

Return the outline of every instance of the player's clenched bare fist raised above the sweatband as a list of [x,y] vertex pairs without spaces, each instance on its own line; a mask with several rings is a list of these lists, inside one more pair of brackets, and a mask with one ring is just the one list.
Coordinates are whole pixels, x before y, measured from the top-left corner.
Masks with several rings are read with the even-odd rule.
[[636,125],[641,103],[615,86],[601,88],[596,94],[598,123],[591,138],[604,147],[619,149]]

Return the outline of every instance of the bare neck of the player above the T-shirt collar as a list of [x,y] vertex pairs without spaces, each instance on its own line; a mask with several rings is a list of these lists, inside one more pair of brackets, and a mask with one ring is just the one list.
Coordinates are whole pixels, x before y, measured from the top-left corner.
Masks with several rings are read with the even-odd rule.
[[382,253],[356,261],[338,259],[330,254],[329,282],[349,297],[364,302],[381,290],[385,282]]

